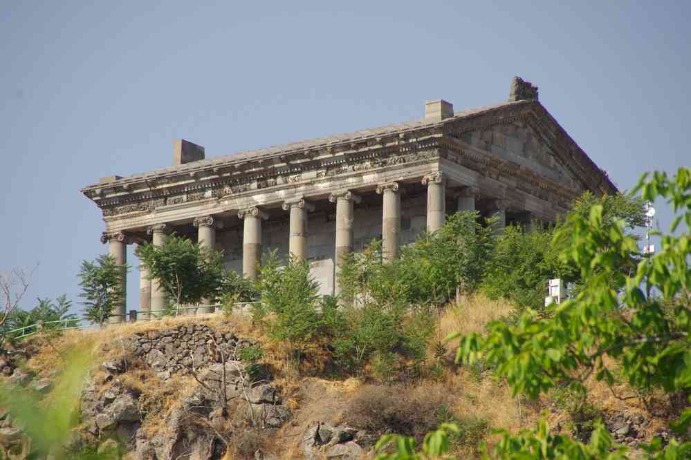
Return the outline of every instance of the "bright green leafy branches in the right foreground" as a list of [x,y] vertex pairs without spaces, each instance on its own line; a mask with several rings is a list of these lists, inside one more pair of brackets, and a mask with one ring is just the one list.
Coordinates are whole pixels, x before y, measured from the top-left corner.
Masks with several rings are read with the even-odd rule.
[[[457,359],[473,363],[484,358],[506,378],[514,394],[531,398],[557,385],[585,395],[584,381],[594,376],[619,398],[638,397],[646,403],[650,390],[691,391],[691,170],[676,177],[644,175],[637,191],[642,200],[662,198],[676,218],[661,236],[661,250],[643,257],[637,240],[627,235],[625,219],[607,219],[605,205],[594,204],[588,215],[571,213],[556,231],[562,262],[580,273],[583,289],[572,300],[553,307],[549,317],[524,314],[515,325],[495,322],[488,334],[459,336]],[[685,227],[685,228],[683,228]],[[675,231],[679,233],[675,234]],[[620,269],[634,265],[628,274]],[[632,394],[617,390],[621,378]],[[691,426],[686,408],[672,428],[685,434]],[[503,432],[495,449],[500,458],[622,458],[610,452],[611,440],[596,429],[584,445],[537,430]],[[561,448],[560,448],[561,445]],[[568,445],[568,450],[563,450]],[[691,443],[672,440],[647,446],[650,458],[688,458]],[[549,454],[549,452],[553,452]]]

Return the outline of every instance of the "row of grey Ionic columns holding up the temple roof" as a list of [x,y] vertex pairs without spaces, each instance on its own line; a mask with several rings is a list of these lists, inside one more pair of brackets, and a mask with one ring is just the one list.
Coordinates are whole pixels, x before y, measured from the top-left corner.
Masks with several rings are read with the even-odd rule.
[[[446,218],[446,184],[442,173],[432,173],[425,175],[421,180],[427,187],[427,231],[434,232],[443,227]],[[399,233],[400,233],[400,194],[403,189],[398,182],[385,182],[376,188],[376,192],[382,195],[383,215],[382,215],[382,240],[383,257],[391,260],[398,256]],[[475,200],[477,191],[466,187],[456,195],[457,210],[475,210]],[[360,203],[360,196],[344,190],[333,192],[329,195],[329,201],[335,203],[335,294],[340,291],[339,274],[340,262],[353,251],[353,209],[354,205]],[[284,211],[290,212],[290,234],[289,251],[297,260],[304,260],[307,257],[307,224],[308,213],[314,210],[306,198],[298,198],[293,201],[284,202]],[[504,211],[496,211],[503,216]],[[246,278],[256,278],[257,266],[261,258],[261,222],[268,219],[268,215],[259,207],[241,209],[238,218],[243,220],[243,244],[242,244],[242,273]],[[198,229],[199,243],[206,247],[214,247],[216,241],[217,222],[213,215],[203,215],[194,219],[194,227]],[[501,223],[503,227],[503,222]],[[163,245],[169,233],[169,224],[156,224],[147,233],[151,235],[154,245]],[[127,262],[126,238],[122,232],[116,235],[104,233],[104,237],[110,242],[110,253],[116,259],[118,265],[125,265]],[[105,242],[105,241],[104,241]],[[122,280],[122,289],[125,292],[125,280]],[[141,267],[140,274],[140,309],[142,318],[147,319],[147,311],[165,309],[167,298],[165,291],[158,285],[156,280],[148,278],[146,267]],[[204,299],[201,312],[212,312],[210,307],[211,299]],[[120,322],[125,318],[125,299],[118,305],[117,312],[112,318],[113,322]]]

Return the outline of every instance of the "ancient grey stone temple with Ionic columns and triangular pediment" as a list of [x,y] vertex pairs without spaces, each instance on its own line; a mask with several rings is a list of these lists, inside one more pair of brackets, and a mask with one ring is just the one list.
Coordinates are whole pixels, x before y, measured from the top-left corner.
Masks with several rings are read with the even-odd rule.
[[[616,192],[518,77],[507,102],[424,109],[412,122],[214,158],[176,140],[172,166],[101,178],[82,193],[102,210],[101,240],[120,264],[125,245],[163,244],[174,232],[222,250],[243,276],[256,276],[266,249],[306,258],[321,294],[337,294],[340,256],[373,238],[395,258],[456,211],[497,215],[500,226],[554,222],[584,191]],[[140,283],[140,312],[164,309],[145,267]],[[126,311],[123,301],[113,320]]]

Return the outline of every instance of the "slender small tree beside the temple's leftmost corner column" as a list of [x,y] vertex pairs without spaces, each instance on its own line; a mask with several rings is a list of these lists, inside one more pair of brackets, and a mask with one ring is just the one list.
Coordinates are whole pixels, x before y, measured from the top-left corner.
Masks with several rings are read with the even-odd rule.
[[84,260],[80,269],[79,295],[84,299],[84,318],[102,326],[113,314],[113,309],[122,300],[122,278],[127,274],[127,265],[118,265],[108,254],[98,256],[92,262]]

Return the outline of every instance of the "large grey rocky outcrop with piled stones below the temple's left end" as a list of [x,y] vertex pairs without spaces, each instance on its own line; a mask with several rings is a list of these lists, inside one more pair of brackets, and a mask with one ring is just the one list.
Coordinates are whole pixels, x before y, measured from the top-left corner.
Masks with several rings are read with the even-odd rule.
[[237,350],[254,345],[250,341],[206,325],[182,325],[140,332],[127,343],[129,352],[158,378],[194,377],[192,387],[165,416],[164,428],[149,436],[139,394],[122,385],[128,363],[124,359],[102,363],[107,375],[103,381],[92,381],[82,396],[85,425],[95,438],[113,434],[128,441],[136,459],[220,459],[235,432],[251,428],[265,431],[268,437],[291,417],[277,389],[266,380],[253,382],[245,364],[237,361]]

